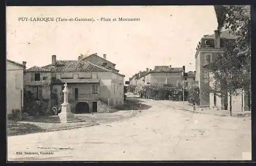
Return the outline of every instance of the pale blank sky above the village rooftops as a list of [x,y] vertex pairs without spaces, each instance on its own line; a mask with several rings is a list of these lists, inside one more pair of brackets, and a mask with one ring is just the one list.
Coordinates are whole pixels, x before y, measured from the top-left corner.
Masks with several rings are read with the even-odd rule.
[[[18,17],[140,18],[137,22],[26,22]],[[146,67],[195,70],[196,47],[218,23],[213,6],[7,7],[7,58],[27,67],[97,53],[129,79]],[[191,64],[189,64],[191,63]]]

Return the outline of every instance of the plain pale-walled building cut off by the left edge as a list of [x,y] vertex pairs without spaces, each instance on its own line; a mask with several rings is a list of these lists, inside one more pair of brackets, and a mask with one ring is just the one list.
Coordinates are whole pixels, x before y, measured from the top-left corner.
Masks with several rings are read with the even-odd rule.
[[6,106],[7,114],[11,115],[13,109],[22,110],[24,104],[23,74],[26,62],[23,64],[6,61]]

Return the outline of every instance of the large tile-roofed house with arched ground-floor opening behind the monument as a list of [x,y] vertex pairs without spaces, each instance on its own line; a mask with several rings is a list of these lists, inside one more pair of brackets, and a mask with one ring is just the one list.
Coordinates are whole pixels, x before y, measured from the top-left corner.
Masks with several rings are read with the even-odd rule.
[[[38,74],[40,82],[35,81],[35,76],[39,77]],[[47,81],[44,80],[49,76]],[[34,66],[27,70],[26,85],[30,88],[38,84],[50,85],[52,106],[63,103],[62,90],[65,83],[70,90],[69,103],[74,113],[101,112],[106,111],[107,105],[123,105],[124,75],[86,59],[56,60],[56,55],[53,55],[51,64],[43,67]],[[40,94],[49,97],[46,91],[38,93]]]

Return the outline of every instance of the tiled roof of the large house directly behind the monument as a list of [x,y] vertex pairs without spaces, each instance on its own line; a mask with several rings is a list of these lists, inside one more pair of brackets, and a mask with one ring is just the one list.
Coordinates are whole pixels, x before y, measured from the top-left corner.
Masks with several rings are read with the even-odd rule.
[[87,60],[57,60],[56,65],[46,65],[42,68],[53,73],[78,73],[78,72],[110,72],[111,70],[97,66]]

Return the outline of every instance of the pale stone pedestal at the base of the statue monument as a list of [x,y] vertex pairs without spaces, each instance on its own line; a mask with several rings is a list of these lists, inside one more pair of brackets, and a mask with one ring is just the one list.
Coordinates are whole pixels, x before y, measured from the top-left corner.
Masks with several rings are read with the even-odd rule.
[[58,114],[60,123],[68,123],[75,120],[75,115],[71,112],[69,103],[61,104],[61,112]]

